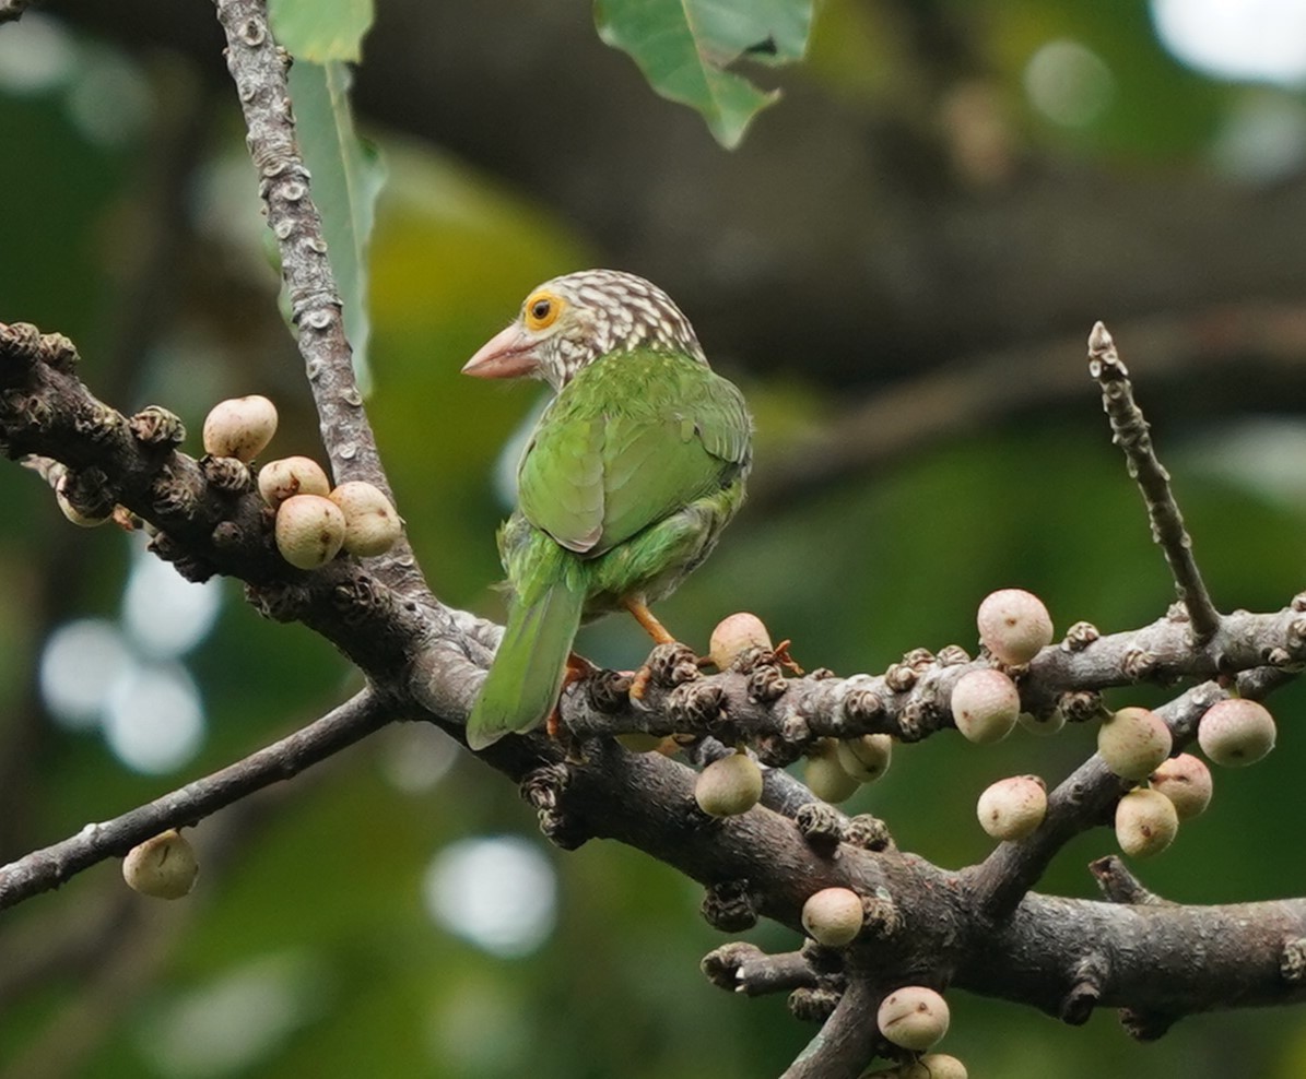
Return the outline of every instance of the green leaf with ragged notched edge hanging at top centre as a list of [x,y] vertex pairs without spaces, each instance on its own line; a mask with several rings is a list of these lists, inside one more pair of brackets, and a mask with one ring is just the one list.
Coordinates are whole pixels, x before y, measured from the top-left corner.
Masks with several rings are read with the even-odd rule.
[[594,0],[599,37],[628,52],[663,98],[701,112],[727,149],[780,97],[729,68],[801,60],[811,20],[812,0]]

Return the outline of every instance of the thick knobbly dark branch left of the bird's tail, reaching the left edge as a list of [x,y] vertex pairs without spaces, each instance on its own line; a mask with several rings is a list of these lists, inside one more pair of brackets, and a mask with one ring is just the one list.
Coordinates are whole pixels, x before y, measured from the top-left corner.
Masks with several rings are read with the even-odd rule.
[[432,638],[469,637],[470,616],[400,595],[374,575],[375,560],[337,558],[311,573],[290,566],[247,467],[180,453],[185,432],[175,416],[161,408],[123,416],[90,394],[76,363],[67,338],[0,324],[0,445],[10,457],[67,466],[69,500],[97,502],[78,509],[125,506],[158,528],[153,549],[183,577],[244,581],[264,615],[315,629],[379,684],[397,682]]

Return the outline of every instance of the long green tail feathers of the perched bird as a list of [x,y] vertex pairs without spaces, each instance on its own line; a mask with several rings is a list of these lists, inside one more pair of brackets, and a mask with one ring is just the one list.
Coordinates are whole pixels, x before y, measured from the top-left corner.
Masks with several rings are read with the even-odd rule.
[[468,716],[471,749],[534,729],[558,703],[584,603],[585,590],[575,582],[568,587],[565,579],[545,586],[529,603],[513,603],[481,697]]

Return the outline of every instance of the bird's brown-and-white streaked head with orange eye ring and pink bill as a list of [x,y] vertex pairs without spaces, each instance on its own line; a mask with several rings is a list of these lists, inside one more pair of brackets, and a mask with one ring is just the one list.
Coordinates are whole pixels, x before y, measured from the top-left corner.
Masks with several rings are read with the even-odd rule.
[[462,368],[478,378],[543,378],[560,390],[611,352],[649,348],[707,363],[693,327],[652,282],[622,270],[580,270],[532,290],[516,321]]

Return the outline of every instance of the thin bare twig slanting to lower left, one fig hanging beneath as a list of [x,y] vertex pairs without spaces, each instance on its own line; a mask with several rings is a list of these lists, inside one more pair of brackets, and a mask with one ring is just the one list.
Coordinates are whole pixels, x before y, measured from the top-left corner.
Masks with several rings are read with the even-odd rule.
[[59,887],[69,877],[167,828],[184,827],[253,791],[298,775],[396,719],[389,698],[363,690],[295,733],[243,761],[77,835],[0,866],[0,909]]

